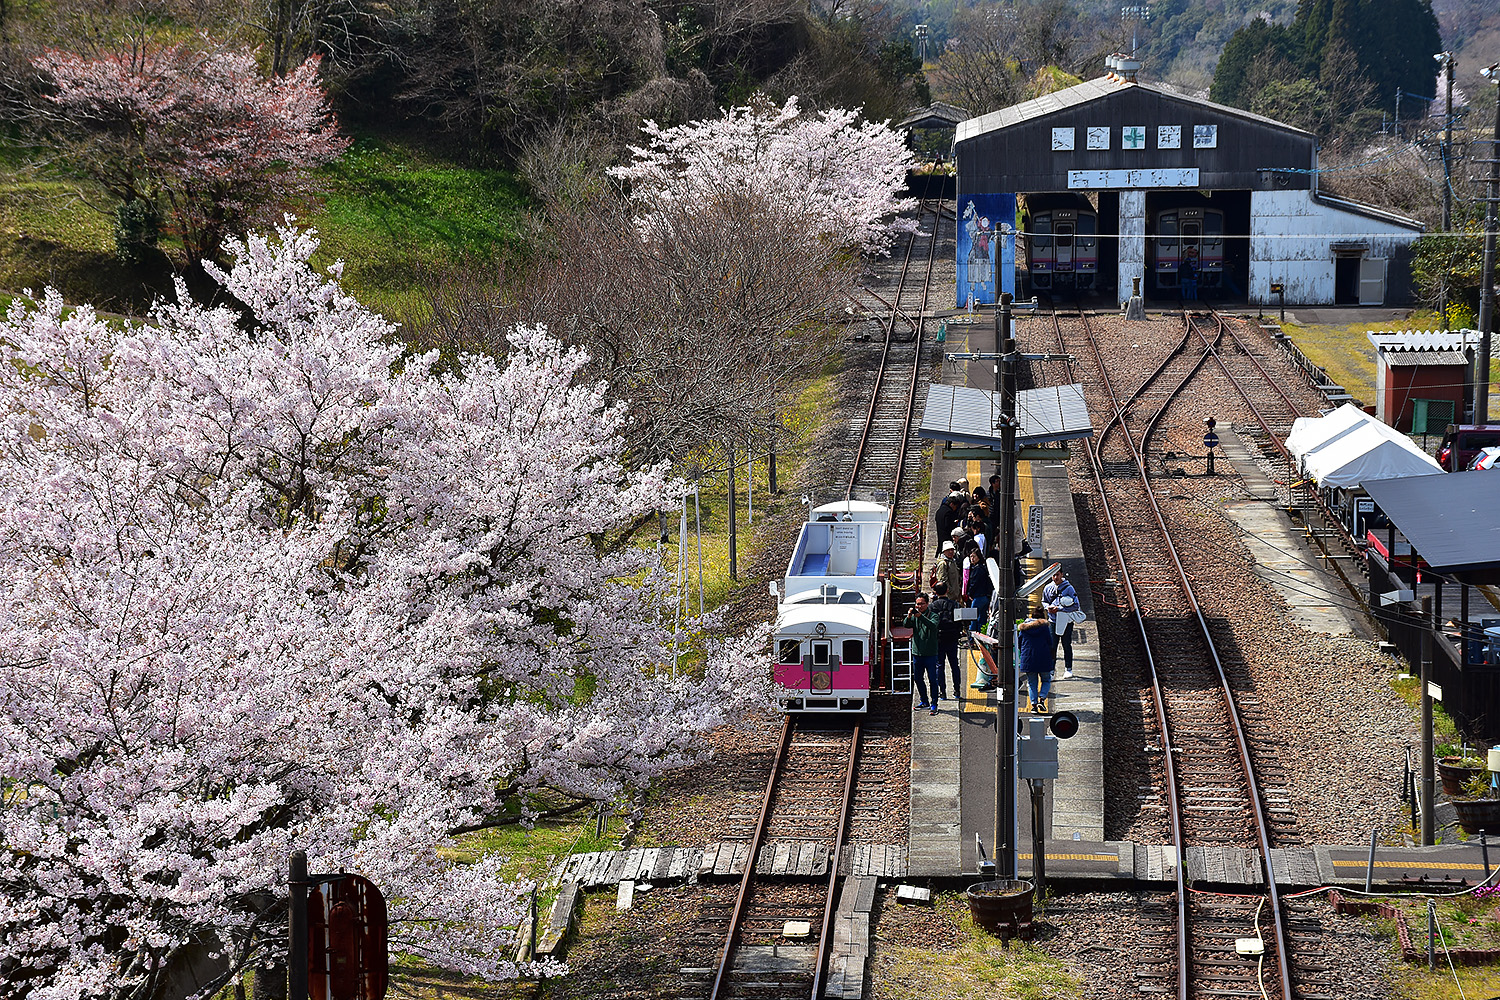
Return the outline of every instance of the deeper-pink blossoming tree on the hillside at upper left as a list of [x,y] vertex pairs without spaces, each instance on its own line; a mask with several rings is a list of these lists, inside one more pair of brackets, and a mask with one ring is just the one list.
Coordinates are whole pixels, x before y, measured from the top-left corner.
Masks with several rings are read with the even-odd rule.
[[318,58],[266,79],[255,52],[136,40],[99,55],[51,49],[32,111],[120,205],[146,205],[195,264],[231,234],[274,220],[336,159]]

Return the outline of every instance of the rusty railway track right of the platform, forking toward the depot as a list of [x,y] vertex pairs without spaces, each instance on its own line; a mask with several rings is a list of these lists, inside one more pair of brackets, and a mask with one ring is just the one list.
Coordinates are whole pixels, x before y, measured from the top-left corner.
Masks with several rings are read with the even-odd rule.
[[[1056,334],[1065,346],[1060,319]],[[1101,501],[1107,547],[1149,678],[1155,748],[1172,844],[1179,864],[1172,934],[1148,936],[1143,978],[1174,981],[1180,1000],[1281,996],[1293,1000],[1293,940],[1270,871],[1275,828],[1262,802],[1251,739],[1240,706],[1168,519],[1155,495],[1150,444],[1173,405],[1218,357],[1226,330],[1209,334],[1185,322],[1184,336],[1130,391],[1116,387],[1089,321],[1077,318],[1076,342],[1094,361],[1092,402],[1104,414],[1089,459]],[[1194,336],[1196,334],[1196,336]],[[1222,364],[1222,361],[1221,361]],[[1136,475],[1126,474],[1134,466]],[[1208,894],[1186,885],[1180,859],[1190,847],[1224,850],[1258,867],[1264,897]],[[1227,849],[1227,850],[1226,850]],[[1238,858],[1236,858],[1238,855]],[[1166,916],[1166,915],[1162,915]],[[1162,921],[1166,924],[1166,919]],[[1254,942],[1245,955],[1240,942]]]

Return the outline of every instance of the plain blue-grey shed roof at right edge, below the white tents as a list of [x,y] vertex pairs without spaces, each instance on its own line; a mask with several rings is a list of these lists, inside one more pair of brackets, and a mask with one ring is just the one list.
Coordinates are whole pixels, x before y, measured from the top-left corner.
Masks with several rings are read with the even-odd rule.
[[1500,472],[1444,472],[1365,490],[1438,573],[1500,568]]

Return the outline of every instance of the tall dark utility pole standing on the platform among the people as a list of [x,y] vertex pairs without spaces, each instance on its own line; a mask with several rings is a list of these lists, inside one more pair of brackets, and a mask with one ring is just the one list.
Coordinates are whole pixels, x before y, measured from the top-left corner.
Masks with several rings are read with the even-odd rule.
[[1000,879],[1016,879],[1016,615],[1011,609],[1016,574],[1011,556],[1016,552],[1016,337],[1011,336],[1011,294],[1000,292],[1000,307],[994,312],[994,348],[999,352],[996,390],[1000,393],[1000,685],[999,717],[996,720],[996,804],[994,861]]

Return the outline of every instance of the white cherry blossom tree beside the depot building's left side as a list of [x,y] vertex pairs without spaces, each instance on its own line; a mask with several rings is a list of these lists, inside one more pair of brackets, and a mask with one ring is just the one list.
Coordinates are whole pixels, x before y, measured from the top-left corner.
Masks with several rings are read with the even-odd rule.
[[885,252],[912,220],[896,219],[915,201],[900,198],[912,153],[884,123],[858,109],[804,114],[796,97],[782,106],[759,97],[718,118],[663,129],[645,123],[646,145],[610,172],[632,186],[644,225],[660,226],[668,204],[708,205],[744,193],[813,220],[838,246]]

